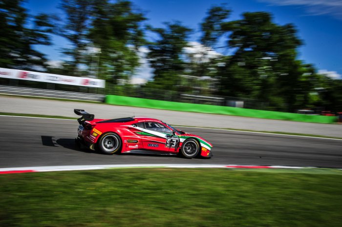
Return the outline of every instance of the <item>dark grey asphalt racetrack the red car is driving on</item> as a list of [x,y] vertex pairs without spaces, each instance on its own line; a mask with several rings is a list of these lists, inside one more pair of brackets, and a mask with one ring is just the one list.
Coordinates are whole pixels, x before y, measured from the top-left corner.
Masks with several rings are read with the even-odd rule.
[[182,128],[214,144],[211,159],[103,155],[75,148],[78,123],[0,116],[0,168],[53,165],[219,164],[342,167],[342,140]]

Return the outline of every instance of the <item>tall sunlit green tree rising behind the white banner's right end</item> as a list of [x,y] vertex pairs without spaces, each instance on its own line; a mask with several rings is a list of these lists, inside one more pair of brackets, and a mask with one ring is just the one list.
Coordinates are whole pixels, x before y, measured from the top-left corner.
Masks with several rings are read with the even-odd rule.
[[141,28],[145,20],[130,1],[95,0],[87,38],[101,49],[98,56],[101,78],[116,84],[118,79],[128,80],[133,74],[139,65],[137,52],[145,43]]

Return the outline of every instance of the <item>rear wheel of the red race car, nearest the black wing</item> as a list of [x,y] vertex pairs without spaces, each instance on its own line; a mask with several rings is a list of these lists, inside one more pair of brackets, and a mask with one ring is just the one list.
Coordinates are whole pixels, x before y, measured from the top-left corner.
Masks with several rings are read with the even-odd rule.
[[114,154],[121,150],[122,141],[118,134],[107,132],[97,142],[97,149],[104,154]]

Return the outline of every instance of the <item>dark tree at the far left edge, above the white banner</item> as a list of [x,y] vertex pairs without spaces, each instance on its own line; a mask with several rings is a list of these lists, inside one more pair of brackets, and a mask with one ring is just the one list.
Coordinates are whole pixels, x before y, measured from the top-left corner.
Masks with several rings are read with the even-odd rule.
[[48,33],[52,32],[52,24],[47,15],[33,17],[32,28],[29,28],[26,9],[21,6],[22,0],[0,1],[0,67],[44,70],[45,55],[34,49],[34,45],[50,44]]

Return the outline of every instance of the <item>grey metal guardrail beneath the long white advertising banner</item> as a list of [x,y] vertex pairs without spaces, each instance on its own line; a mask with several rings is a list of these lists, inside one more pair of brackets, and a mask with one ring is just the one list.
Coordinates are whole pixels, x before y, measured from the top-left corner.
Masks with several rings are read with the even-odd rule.
[[11,95],[27,95],[27,96],[62,98],[62,99],[72,99],[72,100],[98,101],[98,102],[103,102],[106,98],[106,95],[46,90],[46,89],[29,88],[29,87],[14,87],[14,86],[4,86],[4,85],[0,85],[0,94],[1,93],[11,94]]

